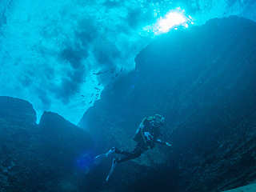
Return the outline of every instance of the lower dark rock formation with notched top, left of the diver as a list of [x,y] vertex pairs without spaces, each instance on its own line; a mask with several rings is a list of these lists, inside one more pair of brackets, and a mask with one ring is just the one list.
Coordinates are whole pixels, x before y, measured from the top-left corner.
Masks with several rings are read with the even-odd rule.
[[77,191],[77,159],[92,146],[86,131],[50,112],[37,125],[18,98],[0,97],[0,106],[0,191]]

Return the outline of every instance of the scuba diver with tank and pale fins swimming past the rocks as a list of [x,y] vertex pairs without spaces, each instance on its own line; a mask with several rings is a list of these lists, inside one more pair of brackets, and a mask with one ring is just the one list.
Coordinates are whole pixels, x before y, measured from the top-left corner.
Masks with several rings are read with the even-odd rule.
[[109,157],[110,154],[122,154],[122,158],[114,158],[110,173],[106,177],[106,182],[109,181],[110,175],[113,173],[115,166],[118,163],[126,162],[134,158],[138,158],[146,150],[153,149],[155,144],[162,144],[164,146],[172,146],[169,142],[162,142],[159,137],[162,135],[160,127],[164,125],[165,118],[160,114],[154,114],[154,116],[143,118],[142,122],[138,126],[134,135],[134,141],[137,142],[134,150],[131,152],[119,150],[116,147],[112,147],[106,154],[99,154],[95,160]]

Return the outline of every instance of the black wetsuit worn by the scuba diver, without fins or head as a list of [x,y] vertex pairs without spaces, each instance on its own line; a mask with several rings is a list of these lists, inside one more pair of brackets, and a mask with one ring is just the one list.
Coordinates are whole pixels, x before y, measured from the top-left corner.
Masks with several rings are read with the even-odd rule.
[[[134,150],[131,152],[124,151],[124,150],[118,150],[115,148],[115,153],[116,154],[123,154],[124,157],[119,158],[117,160],[118,163],[120,162],[126,162],[134,158],[138,158],[143,154],[146,150],[149,150],[154,148],[156,139],[160,136],[160,127],[153,126],[151,121],[148,119],[143,120],[143,128],[140,130],[142,131],[140,133],[140,137],[136,139],[137,145],[135,146]],[[149,141],[145,138],[144,133],[149,132],[150,135],[153,136],[153,138]],[[144,137],[144,138],[143,138]]]

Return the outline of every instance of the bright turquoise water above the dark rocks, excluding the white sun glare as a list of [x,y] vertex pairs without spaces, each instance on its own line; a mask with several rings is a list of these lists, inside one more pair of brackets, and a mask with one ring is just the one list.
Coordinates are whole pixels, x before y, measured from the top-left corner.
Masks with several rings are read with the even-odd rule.
[[78,123],[120,70],[134,69],[155,36],[152,26],[170,10],[202,25],[230,14],[256,19],[255,7],[250,0],[2,0],[0,94],[33,103],[38,120],[51,110]]

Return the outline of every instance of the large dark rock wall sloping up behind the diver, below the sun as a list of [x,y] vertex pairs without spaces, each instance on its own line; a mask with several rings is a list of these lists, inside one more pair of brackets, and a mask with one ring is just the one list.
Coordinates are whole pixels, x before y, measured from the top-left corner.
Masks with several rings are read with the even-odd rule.
[[[120,165],[113,185],[214,192],[256,179],[255,33],[255,22],[230,17],[162,35],[138,54],[136,70],[102,92],[80,122],[98,151],[131,150],[142,118],[156,113],[166,116],[163,139],[174,145]],[[122,171],[132,164],[134,174]],[[143,178],[136,173],[145,166]]]

